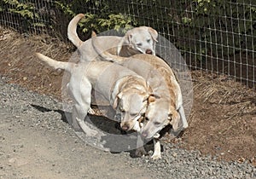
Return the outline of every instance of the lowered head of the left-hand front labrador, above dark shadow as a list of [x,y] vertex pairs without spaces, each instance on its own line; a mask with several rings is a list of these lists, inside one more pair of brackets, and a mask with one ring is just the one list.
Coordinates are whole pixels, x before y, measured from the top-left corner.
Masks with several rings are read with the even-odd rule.
[[121,91],[116,96],[113,107],[123,130],[137,130],[137,120],[146,113],[148,97],[148,92],[138,89]]

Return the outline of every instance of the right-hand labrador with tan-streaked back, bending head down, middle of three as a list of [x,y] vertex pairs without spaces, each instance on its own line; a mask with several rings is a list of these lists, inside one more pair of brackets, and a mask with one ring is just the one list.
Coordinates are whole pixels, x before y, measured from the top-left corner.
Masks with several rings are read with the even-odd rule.
[[[94,45],[94,38],[92,38]],[[94,45],[97,53],[104,61],[113,61],[126,66],[146,79],[153,90],[154,98],[149,97],[148,109],[145,117],[148,123],[142,128],[142,136],[146,139],[159,136],[158,133],[166,125],[172,124],[174,131],[178,132],[188,127],[183,110],[183,99],[180,86],[170,66],[154,55],[132,55],[121,57],[111,55],[108,51],[101,51]],[[154,145],[153,159],[160,158],[160,142]]]

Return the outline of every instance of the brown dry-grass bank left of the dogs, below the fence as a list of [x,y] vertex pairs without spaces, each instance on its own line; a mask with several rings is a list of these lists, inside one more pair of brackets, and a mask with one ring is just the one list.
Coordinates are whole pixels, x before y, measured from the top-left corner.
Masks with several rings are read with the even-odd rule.
[[[0,38],[0,65],[4,67],[1,67],[0,72],[9,77],[9,82],[60,98],[62,72],[52,71],[42,65],[34,54],[40,52],[58,61],[68,61],[73,46],[47,35],[22,37],[10,31],[1,35],[3,38]],[[55,78],[55,81],[52,78]]]

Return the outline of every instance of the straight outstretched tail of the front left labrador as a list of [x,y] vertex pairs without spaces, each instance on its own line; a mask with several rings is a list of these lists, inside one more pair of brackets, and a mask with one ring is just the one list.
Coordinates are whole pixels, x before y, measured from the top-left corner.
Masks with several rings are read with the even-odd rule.
[[43,61],[46,65],[53,67],[55,70],[61,69],[61,70],[65,70],[67,72],[71,72],[73,69],[73,66],[75,65],[70,62],[55,61],[55,60],[49,58],[48,56],[45,56],[40,53],[36,53],[36,56],[38,57],[38,59]]

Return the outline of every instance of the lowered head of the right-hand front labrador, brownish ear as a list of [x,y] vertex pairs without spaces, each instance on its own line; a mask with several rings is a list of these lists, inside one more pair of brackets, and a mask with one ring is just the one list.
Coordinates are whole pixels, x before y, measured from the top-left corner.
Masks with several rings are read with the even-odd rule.
[[174,131],[180,129],[180,115],[174,107],[170,106],[169,101],[161,101],[159,99],[149,103],[145,117],[148,121],[141,132],[146,139],[153,138],[168,124],[172,125]]

